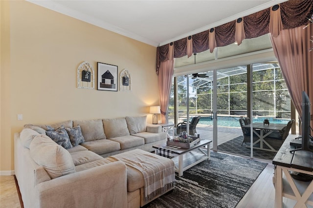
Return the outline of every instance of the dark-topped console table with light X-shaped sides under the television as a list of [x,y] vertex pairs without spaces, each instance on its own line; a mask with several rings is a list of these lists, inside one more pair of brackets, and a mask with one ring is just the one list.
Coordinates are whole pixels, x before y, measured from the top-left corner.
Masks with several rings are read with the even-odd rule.
[[283,197],[296,200],[295,208],[313,206],[313,181],[303,182],[291,177],[289,171],[301,172],[313,175],[313,152],[295,151],[294,146],[290,146],[291,138],[286,139],[280,147],[273,164],[274,187],[275,187],[275,208],[283,207]]

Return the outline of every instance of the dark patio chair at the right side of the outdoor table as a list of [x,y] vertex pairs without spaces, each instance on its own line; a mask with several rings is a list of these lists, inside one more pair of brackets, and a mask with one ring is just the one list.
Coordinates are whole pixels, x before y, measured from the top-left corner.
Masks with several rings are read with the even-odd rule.
[[294,123],[294,119],[291,119],[288,124],[280,131],[274,131],[264,138],[268,144],[275,149],[279,149],[280,146],[284,143],[285,139],[289,135],[289,131],[291,129],[292,124]]

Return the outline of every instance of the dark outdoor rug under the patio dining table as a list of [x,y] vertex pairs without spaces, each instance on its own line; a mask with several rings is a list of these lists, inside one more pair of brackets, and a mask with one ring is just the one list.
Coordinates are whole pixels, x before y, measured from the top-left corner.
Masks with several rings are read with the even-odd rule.
[[[236,137],[228,142],[225,142],[217,147],[218,151],[227,152],[229,154],[237,154],[250,157],[250,148],[246,146],[250,146],[250,143],[243,143],[244,136]],[[260,149],[253,149],[253,157],[263,160],[273,160],[276,152],[265,151]]]

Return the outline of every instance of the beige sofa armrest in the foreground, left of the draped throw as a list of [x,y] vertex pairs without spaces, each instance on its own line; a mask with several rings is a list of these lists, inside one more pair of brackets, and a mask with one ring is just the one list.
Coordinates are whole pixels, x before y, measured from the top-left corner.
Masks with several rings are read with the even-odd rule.
[[61,176],[35,187],[34,207],[127,207],[126,165],[120,161]]

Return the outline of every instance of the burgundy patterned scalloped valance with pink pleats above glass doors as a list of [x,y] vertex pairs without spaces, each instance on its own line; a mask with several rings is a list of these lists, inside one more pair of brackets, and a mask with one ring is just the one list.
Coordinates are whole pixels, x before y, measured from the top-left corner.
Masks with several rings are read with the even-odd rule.
[[[200,53],[267,33],[277,37],[282,29],[305,25],[313,14],[312,0],[289,0],[268,9],[156,48],[156,73],[160,62]],[[170,47],[171,46],[171,47]]]

